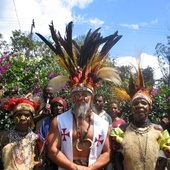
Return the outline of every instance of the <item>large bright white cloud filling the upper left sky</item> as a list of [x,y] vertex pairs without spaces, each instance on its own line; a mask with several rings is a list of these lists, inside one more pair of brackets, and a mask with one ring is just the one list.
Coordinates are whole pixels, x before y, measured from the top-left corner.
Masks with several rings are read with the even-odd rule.
[[65,25],[74,20],[73,8],[85,8],[93,0],[6,0],[1,10],[0,33],[9,39],[11,31],[21,29],[30,31],[32,20],[34,32],[49,35],[48,25],[53,20],[54,26],[64,34]]

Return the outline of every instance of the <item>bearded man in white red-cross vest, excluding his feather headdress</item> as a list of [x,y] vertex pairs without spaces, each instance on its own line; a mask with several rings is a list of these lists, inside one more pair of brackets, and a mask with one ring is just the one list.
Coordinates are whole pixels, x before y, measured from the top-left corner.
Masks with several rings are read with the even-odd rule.
[[71,97],[73,108],[51,124],[48,156],[59,169],[102,169],[110,160],[109,124],[91,110],[91,92],[75,91]]

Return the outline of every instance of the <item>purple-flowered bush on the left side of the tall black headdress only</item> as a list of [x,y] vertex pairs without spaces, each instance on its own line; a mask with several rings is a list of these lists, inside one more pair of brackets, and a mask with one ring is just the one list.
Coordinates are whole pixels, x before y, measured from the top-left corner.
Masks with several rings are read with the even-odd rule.
[[[5,98],[24,96],[29,92],[40,96],[47,82],[59,74],[65,74],[65,71],[61,69],[55,57],[26,59],[22,55],[4,52],[0,56],[1,102]],[[1,110],[0,119],[0,129],[11,127],[9,113]]]

